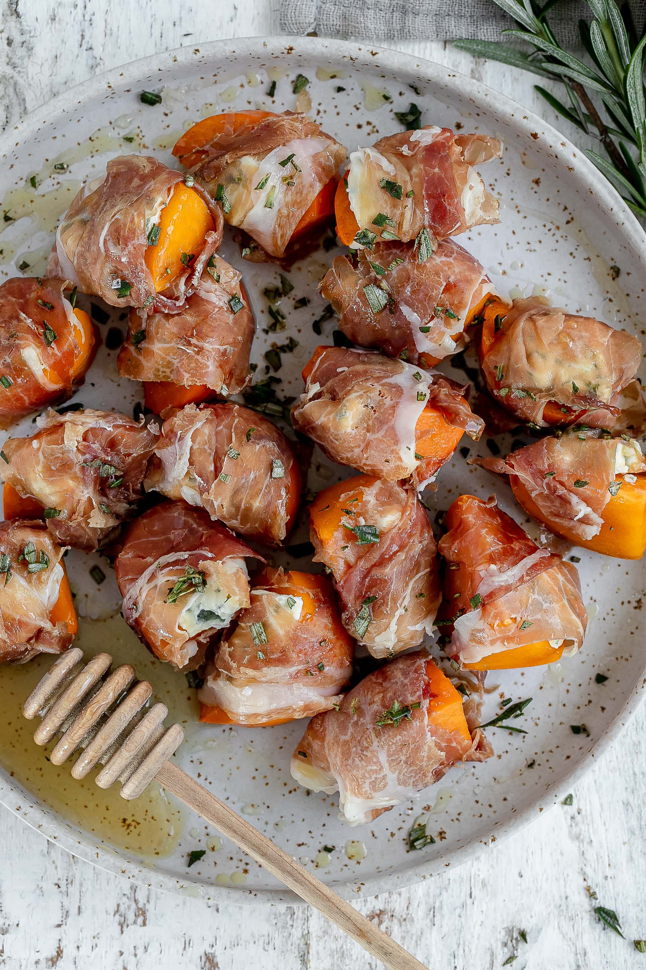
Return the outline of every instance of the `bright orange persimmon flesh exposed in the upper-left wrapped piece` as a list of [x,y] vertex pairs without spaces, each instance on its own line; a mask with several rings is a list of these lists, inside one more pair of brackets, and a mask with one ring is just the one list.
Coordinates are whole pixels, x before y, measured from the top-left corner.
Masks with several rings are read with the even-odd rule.
[[[169,204],[160,215],[159,239],[145,251],[145,264],[159,293],[186,270],[204,245],[204,236],[215,228],[205,202],[181,182],[175,186]],[[184,262],[182,262],[182,256]]]

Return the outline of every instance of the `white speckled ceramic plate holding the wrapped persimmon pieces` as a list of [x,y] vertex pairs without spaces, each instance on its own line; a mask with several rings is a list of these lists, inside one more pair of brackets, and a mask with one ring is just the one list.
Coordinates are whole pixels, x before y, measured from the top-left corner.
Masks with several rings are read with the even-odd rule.
[[[419,105],[424,123],[501,138],[506,146],[502,162],[482,173],[500,196],[502,222],[483,226],[460,242],[477,255],[503,294],[546,293],[571,312],[591,313],[631,333],[644,333],[639,323],[646,275],[644,235],[578,149],[508,98],[445,67],[391,50],[315,38],[226,41],[149,57],[80,84],[10,129],[0,141],[2,210],[13,220],[0,223],[3,278],[15,275],[23,262],[30,264],[26,272],[42,272],[57,217],[81,180],[104,169],[109,157],[135,150],[170,162],[169,149],[178,135],[206,114],[247,107],[293,109],[292,81],[298,73],[310,79],[312,116],[349,149],[400,130],[393,112],[408,108],[411,101]],[[266,94],[270,80],[277,82],[274,101]],[[143,89],[163,89],[163,104],[142,105],[138,93]],[[65,173],[53,168],[60,161],[69,164]],[[29,183],[34,174],[36,190]],[[231,239],[225,242],[224,255],[244,274],[257,315],[254,360],[263,363],[266,342],[274,335],[262,334],[267,317],[261,291],[276,279],[277,270],[242,262]],[[299,344],[292,356],[284,357],[285,395],[300,391],[300,369],[320,342],[312,331],[323,307],[316,285],[333,255],[321,250],[290,274],[292,298],[307,295],[311,303],[294,309],[293,299],[283,302],[285,337],[292,335]],[[104,325],[104,335],[110,325],[124,327],[112,320]],[[332,327],[332,321],[323,324],[323,339],[329,341]],[[138,385],[118,379],[114,357],[105,346],[101,349],[77,398],[131,413]],[[20,430],[28,434],[30,429],[27,421]],[[467,441],[472,455],[487,453],[486,442],[476,448]],[[499,441],[503,450],[508,448],[508,439]],[[320,458],[315,455],[311,487],[348,473]],[[460,492],[487,496],[495,490],[503,507],[525,523],[507,486],[468,469],[459,451],[440,473],[439,489],[428,501],[442,509]],[[305,537],[298,533],[292,541]],[[262,831],[308,866],[316,864],[323,845],[334,846],[318,875],[352,897],[440,873],[530,822],[563,797],[574,777],[621,730],[643,689],[644,567],[584,550],[577,554],[591,618],[583,650],[551,667],[489,675],[489,682],[500,684],[505,695],[534,698],[524,722],[528,733],[491,730],[495,758],[453,768],[422,792],[415,805],[402,805],[374,824],[354,829],[338,821],[336,796],[311,794],[292,782],[289,760],[303,724],[257,729],[196,725],[195,697],[183,676],[152,662],[119,619],[116,587],[105,561],[108,578],[100,588],[88,578],[95,557],[72,552],[68,564],[82,617],[79,645],[87,651],[116,652],[119,659],[130,656],[140,675],[153,677],[160,699],[170,698],[187,722],[187,740],[177,754],[181,766],[238,811],[250,814]],[[307,561],[298,564],[303,568]],[[598,672],[608,678],[603,684],[596,683]],[[0,688],[10,676],[7,668],[0,670]],[[19,689],[15,681],[15,691]],[[487,697],[483,716],[498,710],[500,692]],[[589,736],[570,730],[581,723]],[[70,821],[74,813],[61,814],[40,797],[53,772],[45,756],[29,777],[16,769],[12,777],[12,738],[18,736],[20,744],[27,737],[18,729],[18,719],[10,719],[0,733],[0,800],[77,856],[130,879],[203,898],[294,901],[232,844],[220,848],[217,832],[188,812],[174,821],[174,834],[166,843],[171,855],[140,857],[113,848],[127,839],[112,838],[109,829],[94,822],[88,826],[94,830],[84,830]],[[164,808],[157,797],[158,809]],[[436,843],[407,853],[408,830],[423,808],[430,810],[428,829]],[[168,827],[166,820],[164,824]],[[364,844],[364,858],[346,855],[348,840]],[[194,849],[206,853],[189,869],[187,855]]]

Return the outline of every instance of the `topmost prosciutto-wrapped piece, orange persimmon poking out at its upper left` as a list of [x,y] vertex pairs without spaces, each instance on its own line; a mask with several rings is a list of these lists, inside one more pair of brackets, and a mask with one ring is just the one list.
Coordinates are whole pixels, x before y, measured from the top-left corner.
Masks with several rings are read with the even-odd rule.
[[214,114],[173,155],[271,256],[334,217],[334,176],[346,149],[306,114]]

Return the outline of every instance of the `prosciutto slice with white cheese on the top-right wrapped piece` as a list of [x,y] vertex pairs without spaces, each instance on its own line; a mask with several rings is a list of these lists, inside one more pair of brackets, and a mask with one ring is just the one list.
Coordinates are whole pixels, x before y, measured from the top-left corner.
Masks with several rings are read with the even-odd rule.
[[422,259],[436,240],[500,222],[498,200],[475,166],[500,158],[502,152],[496,138],[455,135],[437,125],[357,148],[351,152],[347,178],[359,229],[376,233],[383,242],[415,240]]

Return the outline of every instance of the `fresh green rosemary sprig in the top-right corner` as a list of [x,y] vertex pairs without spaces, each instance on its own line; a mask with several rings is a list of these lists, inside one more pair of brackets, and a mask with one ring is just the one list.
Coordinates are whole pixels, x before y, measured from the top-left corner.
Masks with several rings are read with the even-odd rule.
[[[564,50],[547,21],[559,0],[494,0],[517,23],[503,33],[534,48],[531,52],[495,41],[459,40],[454,46],[477,57],[533,71],[543,78],[562,81],[569,107],[536,85],[538,93],[558,113],[586,135],[596,134],[607,158],[592,149],[586,154],[619,190],[631,210],[646,218],[646,98],[643,60],[646,33],[637,38],[627,3],[586,0],[592,22],[579,20],[581,42],[591,65]],[[608,120],[593,100],[599,98]],[[596,129],[596,132],[595,130]]]

